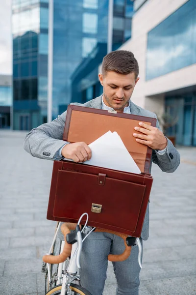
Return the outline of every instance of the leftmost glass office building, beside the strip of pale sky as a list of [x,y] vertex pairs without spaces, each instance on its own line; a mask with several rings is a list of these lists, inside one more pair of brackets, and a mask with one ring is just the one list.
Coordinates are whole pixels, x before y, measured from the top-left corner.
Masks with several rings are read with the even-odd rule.
[[13,128],[47,121],[48,1],[13,0]]

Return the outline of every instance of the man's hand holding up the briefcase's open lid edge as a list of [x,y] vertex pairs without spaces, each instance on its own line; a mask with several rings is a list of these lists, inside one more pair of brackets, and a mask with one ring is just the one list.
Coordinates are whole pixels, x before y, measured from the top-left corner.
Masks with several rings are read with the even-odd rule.
[[136,141],[138,143],[158,150],[163,150],[167,147],[167,139],[165,138],[163,132],[161,132],[158,128],[142,122],[140,122],[139,125],[141,127],[135,127],[134,129],[142,132],[143,134],[133,133],[133,136],[137,137]]

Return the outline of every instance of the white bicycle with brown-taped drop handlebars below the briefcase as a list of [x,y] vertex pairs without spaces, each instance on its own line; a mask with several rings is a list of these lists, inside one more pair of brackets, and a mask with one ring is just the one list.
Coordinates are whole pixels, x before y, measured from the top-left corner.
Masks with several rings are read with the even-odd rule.
[[[87,219],[85,225],[81,227],[80,222],[84,215],[87,216]],[[120,255],[109,254],[109,261],[123,261],[127,259],[131,253],[131,247],[138,245],[138,262],[142,268],[142,245],[139,238],[130,237],[125,234],[116,233],[105,229],[91,228],[87,226],[87,223],[87,213],[81,215],[77,224],[64,223],[61,226],[61,232],[64,235],[64,241],[60,242],[56,239],[60,230],[60,222],[57,224],[55,235],[49,249],[49,254],[43,257],[44,263],[42,271],[46,272],[46,295],[92,295],[90,292],[80,286],[78,270],[80,269],[79,259],[82,250],[82,242],[93,231],[108,232],[123,238],[125,245],[124,252]]]

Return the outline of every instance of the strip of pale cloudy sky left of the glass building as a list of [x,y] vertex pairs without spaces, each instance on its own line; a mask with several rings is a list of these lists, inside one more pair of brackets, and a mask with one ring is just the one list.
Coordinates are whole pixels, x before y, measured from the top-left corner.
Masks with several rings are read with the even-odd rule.
[[11,0],[0,0],[0,75],[12,74]]

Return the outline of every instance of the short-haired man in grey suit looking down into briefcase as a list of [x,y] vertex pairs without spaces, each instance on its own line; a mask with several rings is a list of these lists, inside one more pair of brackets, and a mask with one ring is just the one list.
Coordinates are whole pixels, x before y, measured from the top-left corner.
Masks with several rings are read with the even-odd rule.
[[[113,109],[120,113],[156,118],[131,102],[130,98],[139,80],[139,66],[134,55],[129,51],[114,51],[106,55],[102,63],[99,81],[103,94],[83,105],[103,110]],[[91,158],[91,149],[85,143],[65,143],[62,141],[66,112],[52,122],[31,130],[25,138],[24,148],[33,156],[61,160],[63,157],[75,162],[84,162]],[[137,133],[142,132],[142,134]],[[128,130],[127,130],[128,132]],[[174,172],[180,163],[180,155],[160,130],[140,122],[133,134],[140,144],[153,149],[152,159],[164,172]],[[150,168],[151,169],[151,168]],[[142,240],[148,238],[149,208],[145,216]],[[92,233],[84,241],[81,255],[81,283],[93,295],[102,295],[107,270],[107,256],[121,254],[124,250],[123,239],[108,233]],[[138,295],[140,266],[138,247],[134,246],[130,257],[124,262],[113,263],[117,279],[117,295]]]

